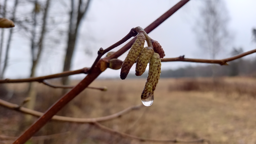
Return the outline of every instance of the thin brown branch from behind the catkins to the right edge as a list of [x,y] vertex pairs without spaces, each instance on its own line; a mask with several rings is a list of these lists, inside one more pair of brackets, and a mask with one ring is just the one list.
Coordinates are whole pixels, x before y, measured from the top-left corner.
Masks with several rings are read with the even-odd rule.
[[164,59],[161,59],[161,62],[187,61],[187,62],[217,63],[217,64],[220,64],[220,65],[228,65],[227,62],[229,62],[229,61],[233,61],[233,60],[242,58],[242,57],[244,57],[246,55],[249,55],[249,54],[252,54],[252,53],[255,53],[255,52],[256,52],[256,49],[248,51],[248,52],[241,53],[241,54],[236,55],[234,57],[230,57],[230,58],[226,58],[226,59],[221,59],[221,60],[188,59],[188,58],[184,58],[184,55],[183,55],[183,56],[180,56],[180,57],[177,57],[177,58],[164,58]]

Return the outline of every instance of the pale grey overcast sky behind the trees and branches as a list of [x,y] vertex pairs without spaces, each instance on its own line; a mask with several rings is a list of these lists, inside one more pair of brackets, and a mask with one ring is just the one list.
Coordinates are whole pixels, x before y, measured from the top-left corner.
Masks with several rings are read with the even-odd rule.
[[[201,52],[201,49],[199,49],[196,35],[193,32],[195,20],[199,18],[198,9],[202,1],[190,0],[149,34],[151,38],[162,45],[166,54],[165,58],[178,57],[180,55],[185,55],[186,58],[209,58],[208,54]],[[146,28],[177,2],[179,0],[157,2],[151,0],[92,0],[89,11],[79,29],[79,37],[71,69],[90,67],[97,57],[97,51],[100,47],[106,49],[123,38],[133,27]],[[230,18],[228,28],[234,39],[217,58],[230,57],[232,47],[242,47],[244,51],[256,48],[255,43],[252,42],[252,28],[256,28],[256,1],[226,0],[225,3]],[[62,8],[59,8],[58,1],[53,1],[51,6],[52,8],[55,7],[55,11],[61,9],[64,13],[68,4],[66,3],[65,6],[64,3],[64,6],[62,5]],[[62,17],[60,14],[60,19],[64,24],[58,28],[67,28],[67,23],[65,23],[68,20],[67,15]],[[40,60],[37,76],[61,72],[67,37],[63,36],[62,39],[63,41],[59,44],[52,46],[50,43],[46,44],[47,48],[44,50],[42,60]],[[117,51],[123,45],[112,51]],[[124,60],[126,55],[127,52],[119,59]],[[247,57],[255,59],[256,55],[253,54]],[[28,77],[31,67],[30,59],[29,40],[22,38],[20,34],[15,34],[10,51],[10,66],[7,69],[5,78]],[[162,70],[177,69],[188,65],[195,66],[199,64],[163,62]],[[135,67],[133,66],[130,72],[135,73],[134,70]],[[119,74],[120,70],[107,69],[100,77],[118,77]],[[78,77],[83,77],[83,75],[74,76],[74,78]]]

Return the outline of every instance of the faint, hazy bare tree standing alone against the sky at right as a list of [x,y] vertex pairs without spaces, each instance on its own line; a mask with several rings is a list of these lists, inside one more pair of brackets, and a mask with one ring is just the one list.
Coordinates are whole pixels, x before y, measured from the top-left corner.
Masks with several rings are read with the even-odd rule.
[[230,40],[227,29],[228,14],[222,0],[203,1],[200,17],[197,20],[195,31],[199,46],[211,59],[215,59],[219,52],[225,49]]

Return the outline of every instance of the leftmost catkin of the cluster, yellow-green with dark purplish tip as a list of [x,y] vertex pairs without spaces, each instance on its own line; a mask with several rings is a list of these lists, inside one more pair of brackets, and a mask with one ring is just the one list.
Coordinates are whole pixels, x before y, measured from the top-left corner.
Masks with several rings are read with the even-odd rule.
[[132,44],[129,53],[127,54],[127,57],[123,62],[120,74],[121,79],[125,79],[128,75],[132,65],[135,63],[136,59],[138,58],[144,47],[145,39],[146,37],[144,36],[143,32],[139,32],[137,35],[137,39]]

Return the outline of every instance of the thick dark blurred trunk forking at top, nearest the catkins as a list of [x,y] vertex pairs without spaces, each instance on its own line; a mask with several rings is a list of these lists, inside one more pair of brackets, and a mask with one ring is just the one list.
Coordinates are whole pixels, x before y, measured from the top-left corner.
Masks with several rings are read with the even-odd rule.
[[[63,71],[70,70],[71,60],[72,60],[72,57],[73,57],[73,52],[74,52],[75,44],[76,44],[77,31],[78,31],[78,28],[79,28],[79,25],[80,25],[80,22],[81,22],[83,16],[86,14],[86,12],[88,10],[90,1],[91,0],[87,0],[86,6],[85,6],[83,11],[81,10],[81,7],[83,5],[82,0],[79,1],[76,25],[75,25],[75,28],[74,28],[74,25],[73,25],[74,0],[71,0],[68,46],[67,46],[67,50],[66,50],[66,56],[65,56]],[[62,78],[62,84],[63,85],[68,85],[69,84],[68,77],[63,77]]]

